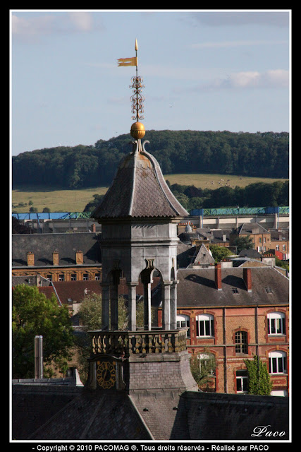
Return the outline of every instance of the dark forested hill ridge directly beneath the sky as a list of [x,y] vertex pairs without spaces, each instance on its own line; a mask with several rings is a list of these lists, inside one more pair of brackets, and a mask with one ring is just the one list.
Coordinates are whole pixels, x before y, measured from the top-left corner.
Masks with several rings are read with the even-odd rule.
[[[228,131],[147,131],[145,149],[164,174],[240,174],[288,178],[288,133]],[[44,148],[13,156],[13,185],[78,189],[107,186],[123,155],[132,150],[130,134],[94,145]]]

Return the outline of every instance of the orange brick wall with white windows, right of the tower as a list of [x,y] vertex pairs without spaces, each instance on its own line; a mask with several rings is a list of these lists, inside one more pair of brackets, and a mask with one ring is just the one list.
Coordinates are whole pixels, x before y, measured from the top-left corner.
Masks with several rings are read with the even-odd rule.
[[[285,334],[268,334],[268,314],[281,312],[285,314]],[[188,351],[192,355],[209,353],[216,360],[215,375],[210,377],[206,391],[217,393],[237,393],[236,372],[246,370],[245,359],[253,359],[253,355],[259,355],[269,369],[269,353],[283,351],[286,354],[285,373],[270,374],[273,383],[273,391],[285,391],[288,393],[288,369],[289,369],[289,323],[288,307],[234,307],[178,309],[178,314],[184,314],[190,318],[190,338],[187,339]],[[211,314],[214,316],[214,336],[197,337],[196,316],[199,314]],[[161,310],[159,310],[159,326],[161,325]],[[224,328],[225,326],[225,328]],[[235,352],[235,333],[244,331],[247,333],[247,353]],[[226,340],[225,340],[226,338]]]

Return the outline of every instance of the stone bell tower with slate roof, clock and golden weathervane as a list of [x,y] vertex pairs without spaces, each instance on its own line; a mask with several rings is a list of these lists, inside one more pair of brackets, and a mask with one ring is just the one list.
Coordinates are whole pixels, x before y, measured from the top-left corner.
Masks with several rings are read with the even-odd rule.
[[[142,78],[136,57],[120,66],[136,65],[132,78],[130,134],[133,149],[121,160],[102,203],[91,217],[102,224],[102,325],[91,331],[90,388],[139,391],[196,391],[186,350],[186,328],[176,327],[177,222],[188,215],[171,193],[156,159],[142,143]],[[132,61],[125,64],[125,60]],[[151,284],[161,275],[162,328],[152,325]],[[118,330],[118,284],[128,285],[128,328]],[[144,287],[144,321],[136,322],[136,287]]]

